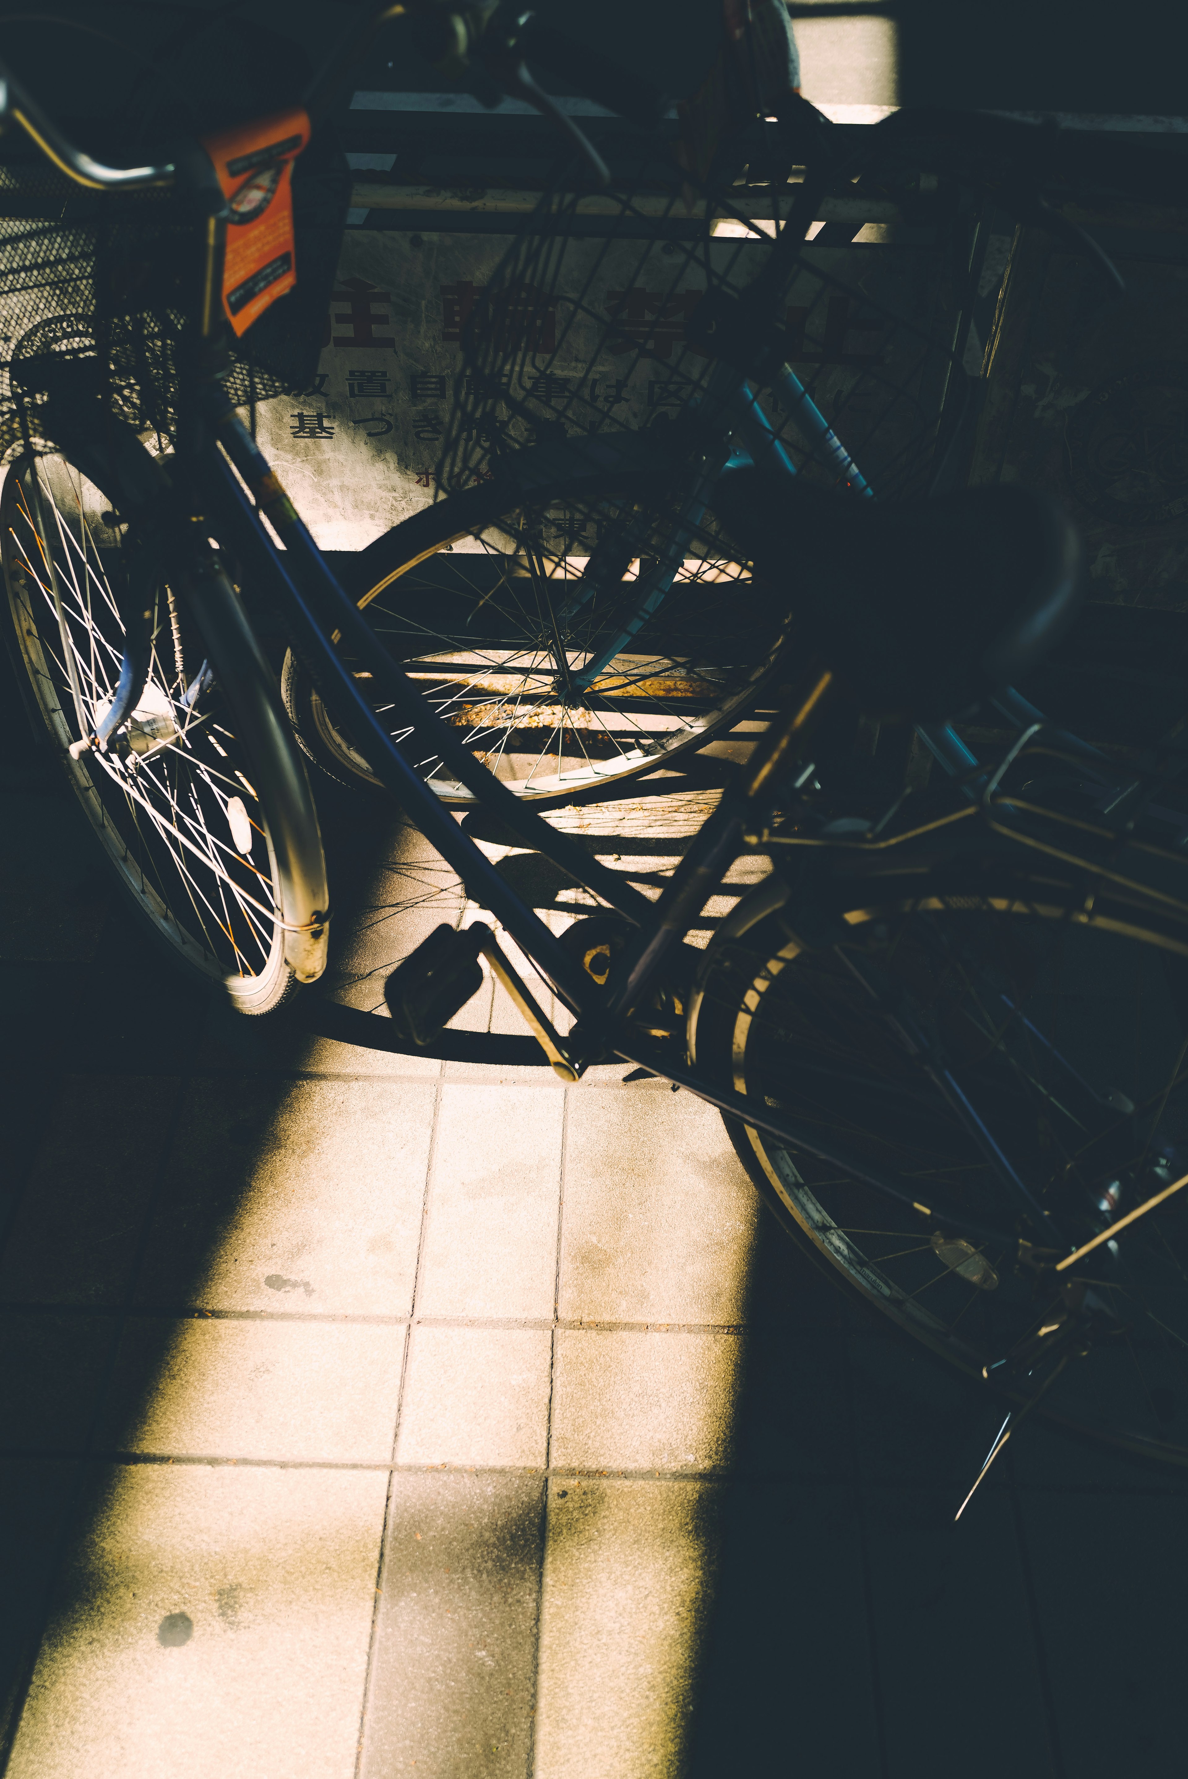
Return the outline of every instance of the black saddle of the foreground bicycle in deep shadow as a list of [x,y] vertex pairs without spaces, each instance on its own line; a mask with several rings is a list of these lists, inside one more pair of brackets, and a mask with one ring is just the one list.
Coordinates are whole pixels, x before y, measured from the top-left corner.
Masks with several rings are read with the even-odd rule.
[[1083,596],[1076,527],[1021,487],[880,507],[740,470],[711,507],[871,713],[953,717],[1024,680]]

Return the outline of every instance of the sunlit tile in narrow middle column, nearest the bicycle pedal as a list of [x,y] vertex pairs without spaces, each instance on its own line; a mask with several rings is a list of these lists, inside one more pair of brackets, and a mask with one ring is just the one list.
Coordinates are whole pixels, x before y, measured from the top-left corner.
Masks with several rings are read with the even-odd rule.
[[551,1318],[564,1107],[535,1087],[443,1087],[418,1315]]

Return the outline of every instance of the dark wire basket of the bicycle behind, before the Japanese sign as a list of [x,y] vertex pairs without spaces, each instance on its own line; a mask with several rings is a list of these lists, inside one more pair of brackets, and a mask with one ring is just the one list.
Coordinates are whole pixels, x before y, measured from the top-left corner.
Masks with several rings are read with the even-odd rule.
[[928,491],[964,377],[946,229],[934,213],[916,226],[928,199],[859,181],[827,194],[793,247],[777,235],[797,183],[710,194],[692,217],[686,194],[654,178],[594,197],[557,185],[487,285],[448,294],[462,366],[439,493],[528,443],[686,420],[715,370],[699,338],[706,306],[747,313],[751,299],[754,315],[761,278],[759,311],[793,382],[759,386],[759,407],[797,473],[838,491],[848,459],[880,500]]

